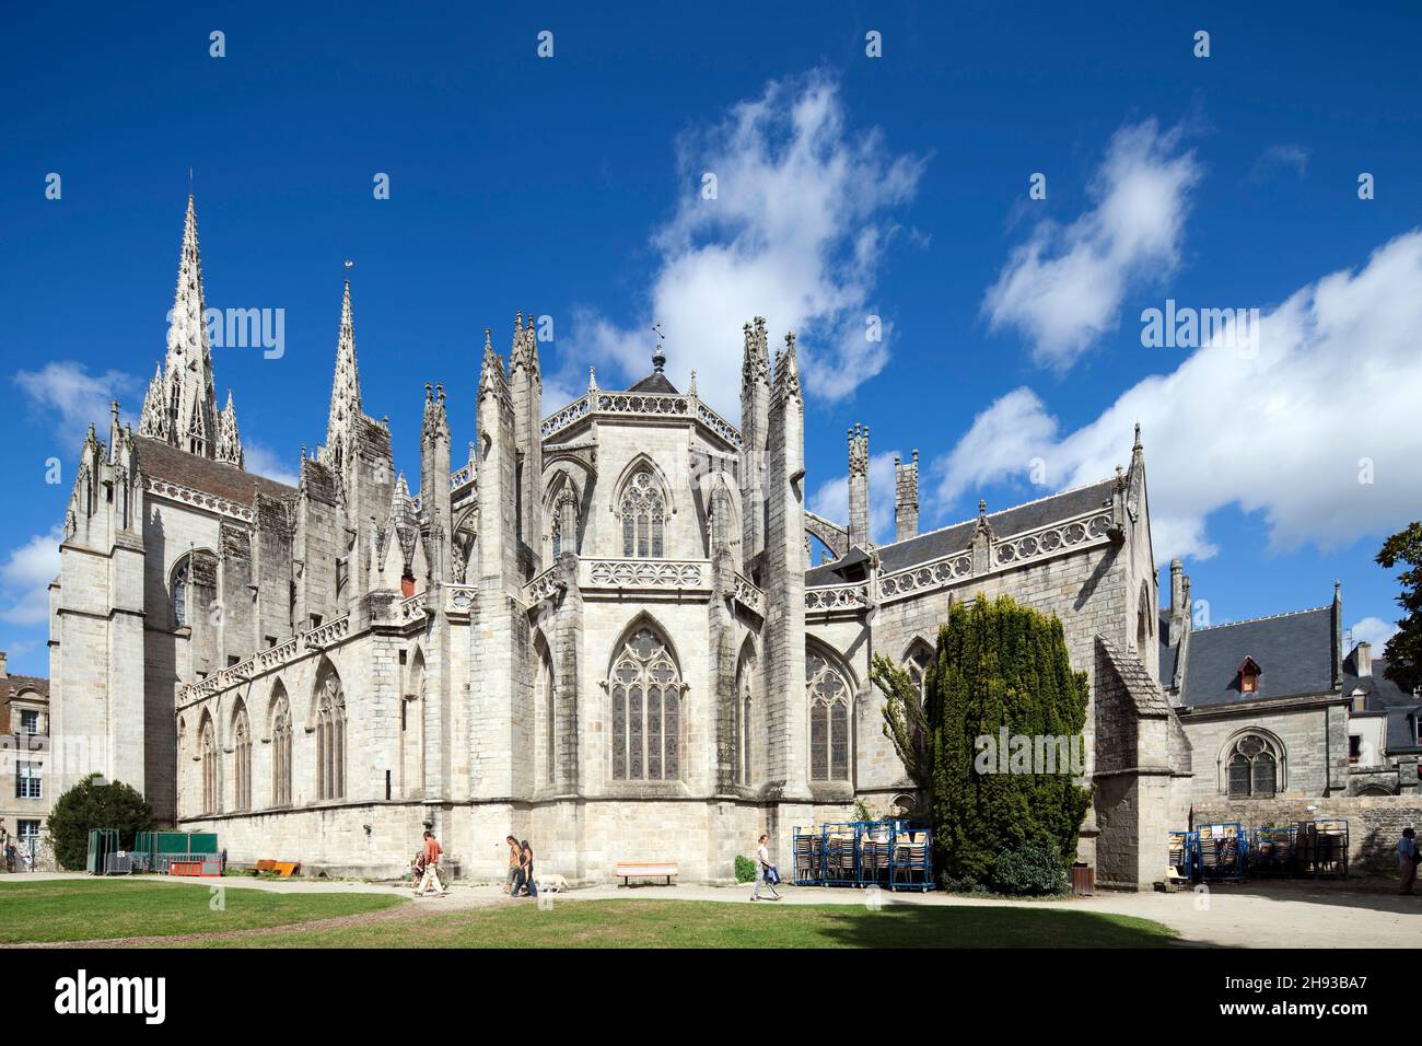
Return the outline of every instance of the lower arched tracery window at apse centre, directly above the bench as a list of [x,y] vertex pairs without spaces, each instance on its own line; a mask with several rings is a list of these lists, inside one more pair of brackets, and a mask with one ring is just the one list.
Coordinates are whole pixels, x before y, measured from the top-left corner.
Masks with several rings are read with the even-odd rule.
[[613,778],[671,781],[681,773],[681,677],[667,643],[638,628],[613,662]]

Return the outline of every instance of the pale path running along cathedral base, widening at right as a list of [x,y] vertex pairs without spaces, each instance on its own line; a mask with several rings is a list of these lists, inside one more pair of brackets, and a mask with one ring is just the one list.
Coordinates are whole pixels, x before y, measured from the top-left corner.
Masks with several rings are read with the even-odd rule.
[[[16,875],[14,879],[20,879]],[[31,872],[26,879],[88,878],[73,872]],[[0,882],[11,877],[0,877]],[[193,879],[172,879],[162,875],[145,877],[145,882],[192,884]],[[213,884],[218,879],[202,879]],[[232,889],[269,889],[273,892],[348,892],[391,894],[411,897],[408,885],[391,882],[347,882],[334,879],[247,879],[225,877],[220,882]],[[995,901],[947,894],[880,894],[884,904],[910,905],[1024,905],[1074,908],[1078,911],[1113,912],[1155,919],[1180,932],[1180,941],[1193,946],[1224,948],[1416,948],[1422,946],[1422,895],[1398,897],[1388,882],[1246,882],[1221,884],[1207,894],[1190,891],[1179,894],[1113,894],[1102,892],[1091,898],[1066,901]],[[862,889],[781,887],[781,904],[865,904]],[[748,904],[749,884],[741,887],[675,887],[613,885],[587,887],[557,894],[556,904],[580,901],[717,901]],[[427,897],[414,901],[401,914],[456,912],[491,904],[508,904],[498,885],[451,887],[448,897]],[[519,904],[528,904],[520,901]],[[764,902],[774,904],[774,902]],[[383,916],[390,918],[390,916]],[[309,924],[310,925],[310,924]]]

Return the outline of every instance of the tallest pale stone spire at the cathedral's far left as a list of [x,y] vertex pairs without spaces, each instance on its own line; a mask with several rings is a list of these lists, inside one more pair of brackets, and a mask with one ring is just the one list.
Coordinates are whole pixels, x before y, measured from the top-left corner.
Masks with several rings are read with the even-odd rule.
[[[212,347],[203,322],[202,259],[198,253],[198,209],[188,196],[178,290],[168,316],[168,359],[164,366],[166,440],[189,454],[210,458],[216,451],[218,401],[212,383]],[[152,427],[152,426],[151,426]]]

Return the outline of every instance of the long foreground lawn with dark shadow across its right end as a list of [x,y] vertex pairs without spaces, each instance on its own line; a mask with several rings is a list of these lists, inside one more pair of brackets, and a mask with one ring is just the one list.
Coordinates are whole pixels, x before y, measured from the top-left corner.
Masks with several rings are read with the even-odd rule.
[[[1149,919],[1057,908],[752,905],[717,901],[509,904],[373,926],[264,935],[263,948],[1159,948]],[[203,941],[242,946],[242,941]],[[247,942],[250,944],[250,942]]]

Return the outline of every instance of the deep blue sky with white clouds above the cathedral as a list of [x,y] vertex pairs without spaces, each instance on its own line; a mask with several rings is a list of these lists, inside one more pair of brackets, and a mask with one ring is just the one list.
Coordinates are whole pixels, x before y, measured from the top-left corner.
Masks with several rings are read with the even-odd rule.
[[[189,168],[209,306],[284,310],[280,359],[215,353],[269,472],[324,434],[346,259],[365,410],[411,474],[424,381],[464,445],[482,330],[506,352],[516,309],[553,317],[546,411],[589,364],[640,377],[660,320],[674,380],[697,369],[732,420],[762,313],[775,343],[799,332],[812,507],[842,515],[856,421],[882,538],[894,451],[919,448],[937,527],[1109,474],[1139,420],[1156,552],[1213,622],[1337,578],[1347,623],[1385,635],[1372,556],[1422,515],[1415,6],[306,7],[4,16],[13,672],[47,670],[87,420],[109,396],[137,417],[162,359]],[[1166,299],[1258,309],[1257,352],[1145,347]]]

